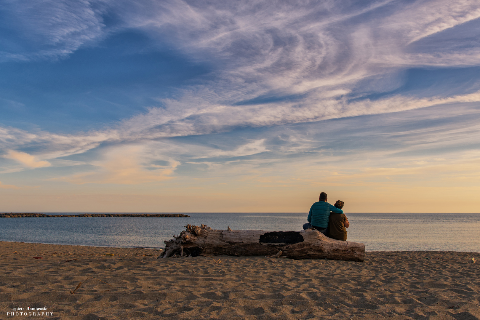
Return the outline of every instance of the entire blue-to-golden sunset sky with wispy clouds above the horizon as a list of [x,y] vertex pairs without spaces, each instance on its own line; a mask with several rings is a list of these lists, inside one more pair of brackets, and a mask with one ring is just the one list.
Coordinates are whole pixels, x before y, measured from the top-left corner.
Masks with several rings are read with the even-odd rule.
[[480,212],[477,0],[5,0],[1,212]]

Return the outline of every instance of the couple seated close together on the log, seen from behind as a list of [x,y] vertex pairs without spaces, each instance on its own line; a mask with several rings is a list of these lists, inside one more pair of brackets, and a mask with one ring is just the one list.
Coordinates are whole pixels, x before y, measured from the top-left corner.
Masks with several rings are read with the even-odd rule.
[[308,223],[303,225],[303,230],[313,228],[327,237],[336,240],[347,240],[347,229],[350,226],[343,213],[343,201],[336,201],[335,206],[327,202],[327,194],[320,193],[318,202],[312,204],[308,214]]

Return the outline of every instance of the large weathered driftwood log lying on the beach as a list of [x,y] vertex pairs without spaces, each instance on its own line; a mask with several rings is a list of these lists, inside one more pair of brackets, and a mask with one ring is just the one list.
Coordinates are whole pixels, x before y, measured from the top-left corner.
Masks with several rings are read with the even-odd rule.
[[[282,251],[292,259],[363,261],[363,243],[325,237],[314,229],[301,231],[214,230],[206,225],[185,225],[179,236],[166,240],[159,258],[175,256],[234,255],[269,256]],[[282,258],[282,257],[279,257]]]

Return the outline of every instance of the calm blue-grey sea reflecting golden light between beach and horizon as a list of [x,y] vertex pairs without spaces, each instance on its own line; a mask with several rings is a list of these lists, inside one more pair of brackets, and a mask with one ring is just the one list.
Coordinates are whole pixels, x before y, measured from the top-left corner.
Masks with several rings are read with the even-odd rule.
[[[75,213],[47,213],[75,214]],[[77,213],[78,214],[78,213]],[[0,240],[124,248],[164,248],[184,225],[295,231],[306,213],[185,213],[190,218],[0,218]],[[480,252],[480,213],[346,213],[348,240],[366,251]]]

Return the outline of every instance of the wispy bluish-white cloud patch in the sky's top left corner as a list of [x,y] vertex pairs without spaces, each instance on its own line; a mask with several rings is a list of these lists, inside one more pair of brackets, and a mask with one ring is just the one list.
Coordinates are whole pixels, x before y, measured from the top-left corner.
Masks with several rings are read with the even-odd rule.
[[0,61],[66,57],[84,43],[105,35],[104,1],[5,1],[3,22],[24,44],[0,52]]

